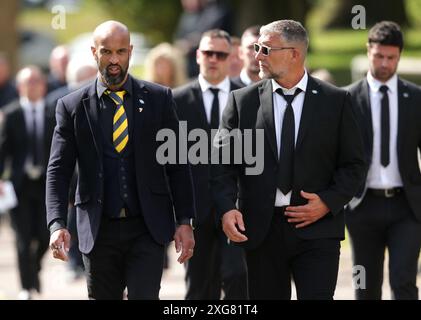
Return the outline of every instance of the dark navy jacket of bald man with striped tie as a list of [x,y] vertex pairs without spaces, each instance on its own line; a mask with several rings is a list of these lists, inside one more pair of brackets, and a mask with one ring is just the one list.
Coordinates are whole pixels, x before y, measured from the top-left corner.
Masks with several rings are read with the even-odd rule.
[[[57,103],[57,126],[47,170],[47,223],[66,221],[69,182],[78,163],[75,194],[79,248],[89,253],[102,216],[103,164],[96,81]],[[177,220],[195,216],[188,164],[161,165],[156,135],[169,128],[178,136],[178,119],[168,88],[133,79],[135,170],[145,223],[158,243],[172,240]]]

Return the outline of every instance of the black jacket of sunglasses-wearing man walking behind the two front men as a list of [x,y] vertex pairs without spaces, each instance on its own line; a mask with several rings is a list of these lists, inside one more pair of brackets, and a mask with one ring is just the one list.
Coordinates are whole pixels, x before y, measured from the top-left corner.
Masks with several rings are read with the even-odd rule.
[[[230,81],[230,90],[239,89]],[[190,82],[174,90],[174,100],[177,105],[177,114],[180,121],[187,121],[187,132],[193,129],[203,129],[210,136],[210,125],[206,118],[205,106],[203,104],[203,95],[198,80]],[[221,106],[223,107],[223,106]],[[194,142],[189,142],[190,147]],[[210,151],[209,151],[210,154]],[[206,220],[208,214],[214,208],[210,185],[210,169],[207,164],[196,164],[191,166],[193,185],[196,197],[196,221],[195,224],[201,224]]]

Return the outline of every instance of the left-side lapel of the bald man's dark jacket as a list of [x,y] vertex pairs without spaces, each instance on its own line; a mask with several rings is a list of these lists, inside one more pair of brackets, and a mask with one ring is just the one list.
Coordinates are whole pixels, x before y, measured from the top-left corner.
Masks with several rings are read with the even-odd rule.
[[95,149],[99,159],[102,159],[101,128],[99,126],[96,81],[89,87],[88,96],[82,99],[82,104],[85,109],[86,118],[88,119]]

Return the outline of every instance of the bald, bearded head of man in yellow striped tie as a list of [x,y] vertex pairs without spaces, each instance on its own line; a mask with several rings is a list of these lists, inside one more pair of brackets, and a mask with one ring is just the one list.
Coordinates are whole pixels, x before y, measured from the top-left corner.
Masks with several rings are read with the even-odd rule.
[[133,46],[129,29],[118,21],[101,23],[93,34],[92,54],[98,64],[101,81],[111,90],[120,88],[127,79]]

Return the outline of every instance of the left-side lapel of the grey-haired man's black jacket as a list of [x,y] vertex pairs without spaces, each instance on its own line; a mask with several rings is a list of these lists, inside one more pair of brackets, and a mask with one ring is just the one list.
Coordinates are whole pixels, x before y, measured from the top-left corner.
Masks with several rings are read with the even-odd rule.
[[260,107],[262,109],[263,123],[265,126],[265,134],[273,155],[278,160],[278,147],[276,143],[276,129],[273,113],[273,92],[270,80],[262,83],[259,87]]

